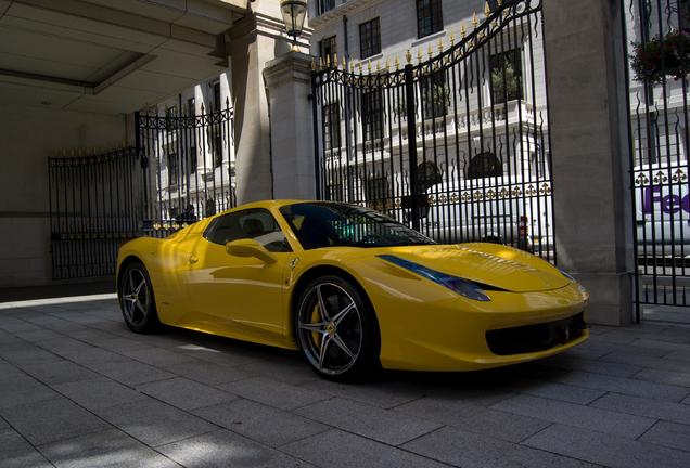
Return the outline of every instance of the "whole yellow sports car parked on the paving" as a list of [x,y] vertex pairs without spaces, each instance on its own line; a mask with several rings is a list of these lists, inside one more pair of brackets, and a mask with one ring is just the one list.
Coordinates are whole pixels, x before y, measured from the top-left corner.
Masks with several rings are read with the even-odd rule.
[[127,326],[299,349],[320,375],[471,370],[585,341],[587,291],[529,253],[437,245],[359,206],[244,205],[119,250]]

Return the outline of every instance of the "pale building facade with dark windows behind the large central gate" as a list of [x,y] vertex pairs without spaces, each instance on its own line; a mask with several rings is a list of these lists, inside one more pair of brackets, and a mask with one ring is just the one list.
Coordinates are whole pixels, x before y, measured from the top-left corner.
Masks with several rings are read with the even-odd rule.
[[[427,205],[420,227],[432,237],[509,243],[553,256],[542,25],[538,14],[506,11],[497,17],[501,5],[483,0],[310,4],[318,67],[340,67],[355,77],[421,65],[461,41],[472,43],[464,55],[453,53],[419,78],[411,104],[413,158],[404,92],[323,90],[318,110],[325,197],[409,221],[404,208],[416,184],[416,196],[425,196]],[[514,20],[504,20],[509,16]],[[491,24],[484,24],[488,17]],[[470,40],[477,28],[486,37]]]

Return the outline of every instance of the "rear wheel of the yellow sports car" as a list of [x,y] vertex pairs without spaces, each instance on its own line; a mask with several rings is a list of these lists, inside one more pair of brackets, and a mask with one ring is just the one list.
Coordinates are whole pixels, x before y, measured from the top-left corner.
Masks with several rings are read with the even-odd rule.
[[151,277],[143,263],[136,261],[125,266],[117,285],[119,309],[127,327],[138,334],[151,334],[161,322],[156,310]]

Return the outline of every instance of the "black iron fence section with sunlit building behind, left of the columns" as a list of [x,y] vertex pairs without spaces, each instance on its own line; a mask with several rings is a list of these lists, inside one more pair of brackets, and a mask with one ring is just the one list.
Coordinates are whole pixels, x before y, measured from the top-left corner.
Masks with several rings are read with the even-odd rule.
[[136,115],[144,231],[162,237],[235,206],[233,110]]

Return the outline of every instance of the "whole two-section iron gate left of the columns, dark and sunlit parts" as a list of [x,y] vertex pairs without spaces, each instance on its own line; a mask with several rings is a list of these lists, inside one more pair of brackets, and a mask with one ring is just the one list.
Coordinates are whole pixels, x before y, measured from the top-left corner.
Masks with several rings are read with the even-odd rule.
[[49,158],[53,280],[112,275],[124,242],[233,207],[232,116],[137,113],[136,147]]

